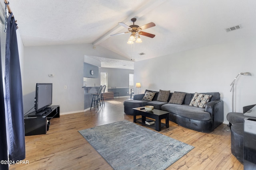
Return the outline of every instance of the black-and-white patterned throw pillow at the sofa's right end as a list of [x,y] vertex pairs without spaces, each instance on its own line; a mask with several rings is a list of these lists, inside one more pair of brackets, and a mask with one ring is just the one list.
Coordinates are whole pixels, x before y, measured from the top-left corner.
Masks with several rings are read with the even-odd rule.
[[189,106],[205,108],[206,104],[210,101],[212,95],[195,93]]

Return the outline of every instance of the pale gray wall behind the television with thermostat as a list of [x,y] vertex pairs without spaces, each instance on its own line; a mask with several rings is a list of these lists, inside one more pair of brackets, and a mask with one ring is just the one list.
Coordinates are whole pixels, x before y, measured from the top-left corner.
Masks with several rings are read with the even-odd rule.
[[[53,105],[60,113],[84,110],[84,55],[120,59],[121,56],[92,44],[24,47],[23,102],[24,113],[34,107],[37,82],[53,83]],[[54,77],[49,77],[54,74]],[[64,86],[67,89],[64,89]]]

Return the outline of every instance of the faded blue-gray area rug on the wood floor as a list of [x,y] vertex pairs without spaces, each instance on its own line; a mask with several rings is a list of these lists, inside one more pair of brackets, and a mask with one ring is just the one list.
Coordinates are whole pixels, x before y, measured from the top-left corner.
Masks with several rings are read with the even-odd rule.
[[126,120],[79,133],[115,170],[164,170],[194,148]]

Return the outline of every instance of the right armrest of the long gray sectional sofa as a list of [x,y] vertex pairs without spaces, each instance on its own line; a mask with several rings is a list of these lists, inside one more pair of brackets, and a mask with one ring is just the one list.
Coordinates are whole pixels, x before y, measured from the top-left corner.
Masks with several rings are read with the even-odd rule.
[[214,128],[224,121],[224,106],[222,100],[214,100],[206,104],[205,111],[211,114]]

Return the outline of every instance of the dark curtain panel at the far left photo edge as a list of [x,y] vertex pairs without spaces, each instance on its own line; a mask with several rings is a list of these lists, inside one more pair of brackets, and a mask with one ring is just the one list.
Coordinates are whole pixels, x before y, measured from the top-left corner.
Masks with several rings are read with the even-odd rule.
[[[4,111],[4,86],[2,79],[2,58],[0,48],[0,160],[8,160],[6,140],[6,123]],[[0,163],[0,170],[8,170],[8,164]]]

